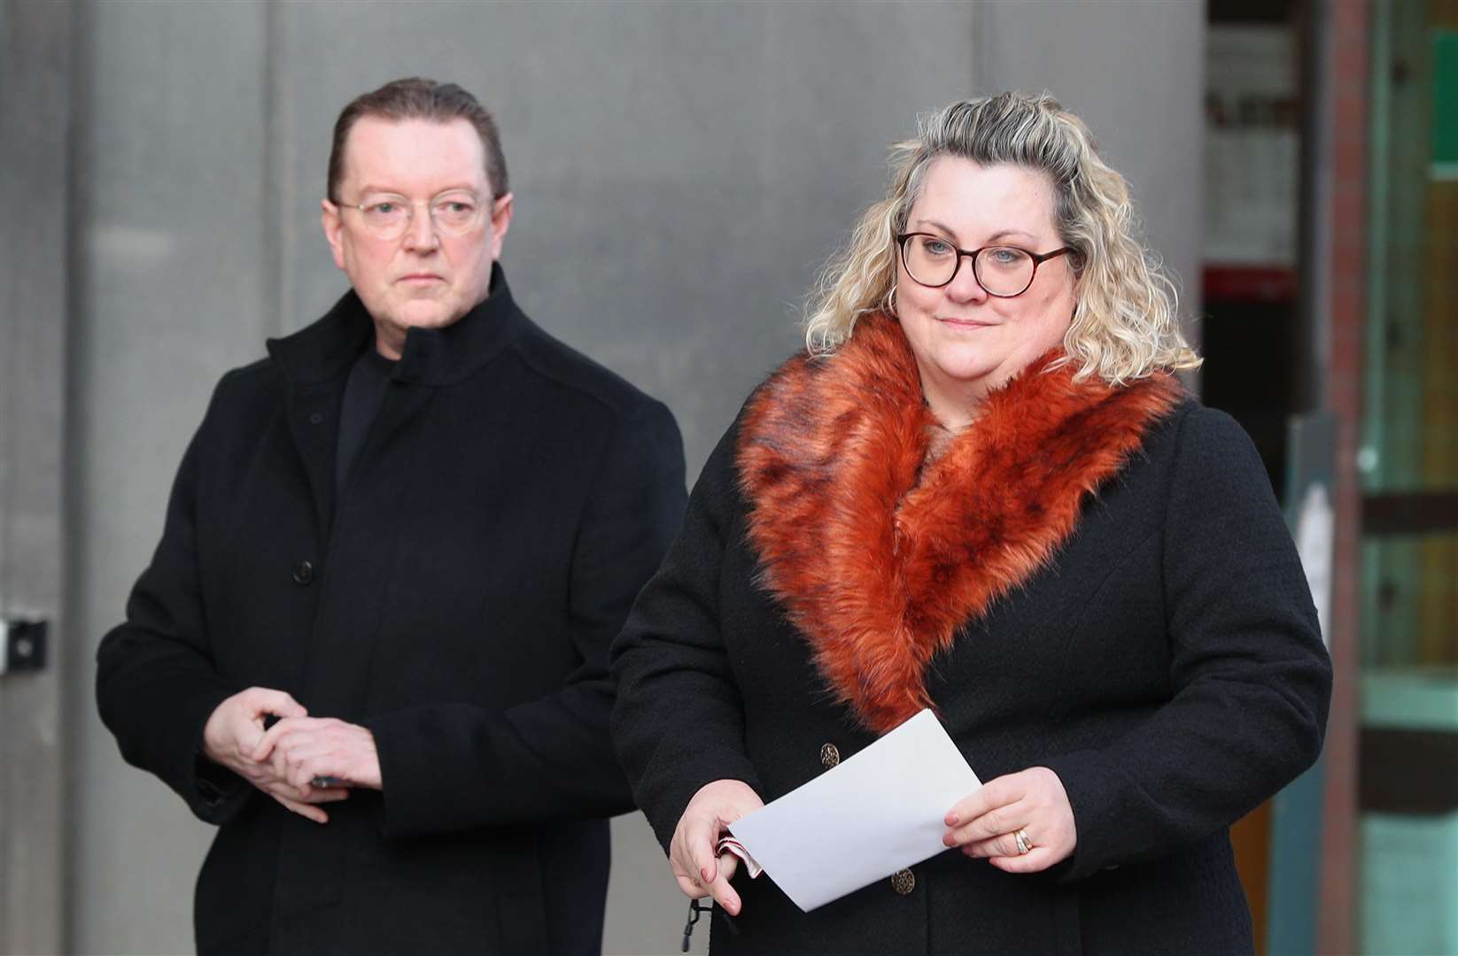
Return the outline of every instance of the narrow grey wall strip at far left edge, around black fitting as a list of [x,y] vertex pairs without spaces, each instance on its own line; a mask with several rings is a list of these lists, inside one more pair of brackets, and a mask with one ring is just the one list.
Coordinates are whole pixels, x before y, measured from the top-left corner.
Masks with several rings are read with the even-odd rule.
[[64,921],[69,184],[52,118],[70,108],[71,20],[66,4],[0,1],[0,615],[51,628],[47,667],[0,676],[0,953],[54,950]]

